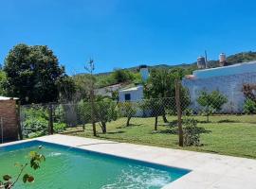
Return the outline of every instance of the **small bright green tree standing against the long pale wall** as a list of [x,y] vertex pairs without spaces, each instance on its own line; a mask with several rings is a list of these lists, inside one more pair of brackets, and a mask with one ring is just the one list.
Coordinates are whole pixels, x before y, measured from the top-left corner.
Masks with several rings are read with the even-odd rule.
[[228,102],[228,98],[219,91],[212,91],[209,94],[206,91],[202,91],[197,102],[204,108],[203,114],[207,116],[207,122],[209,122],[210,114],[221,111],[222,106]]

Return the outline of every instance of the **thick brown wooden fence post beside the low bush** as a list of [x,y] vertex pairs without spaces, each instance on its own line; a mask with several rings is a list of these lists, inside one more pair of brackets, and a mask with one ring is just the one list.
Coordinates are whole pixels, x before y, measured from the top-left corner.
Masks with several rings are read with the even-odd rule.
[[175,79],[175,101],[177,110],[177,124],[178,124],[178,145],[183,146],[183,129],[181,123],[181,107],[180,107],[180,81]]

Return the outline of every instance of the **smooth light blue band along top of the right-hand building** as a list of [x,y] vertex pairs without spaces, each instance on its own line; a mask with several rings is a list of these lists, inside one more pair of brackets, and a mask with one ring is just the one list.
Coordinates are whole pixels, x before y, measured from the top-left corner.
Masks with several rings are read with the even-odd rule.
[[216,67],[204,70],[195,70],[192,75],[195,79],[221,77],[236,74],[245,74],[256,72],[256,60],[244,63],[237,63],[229,66]]

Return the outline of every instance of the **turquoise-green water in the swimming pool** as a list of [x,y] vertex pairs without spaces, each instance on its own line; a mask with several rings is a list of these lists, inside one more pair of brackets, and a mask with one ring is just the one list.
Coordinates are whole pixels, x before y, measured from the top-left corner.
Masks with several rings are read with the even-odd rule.
[[[38,146],[43,146],[38,149]],[[0,147],[0,176],[17,175],[14,163],[25,163],[27,153],[40,151],[46,156],[39,170],[27,168],[33,183],[18,182],[15,188],[37,189],[156,189],[189,171],[143,163],[96,152],[38,141]]]

